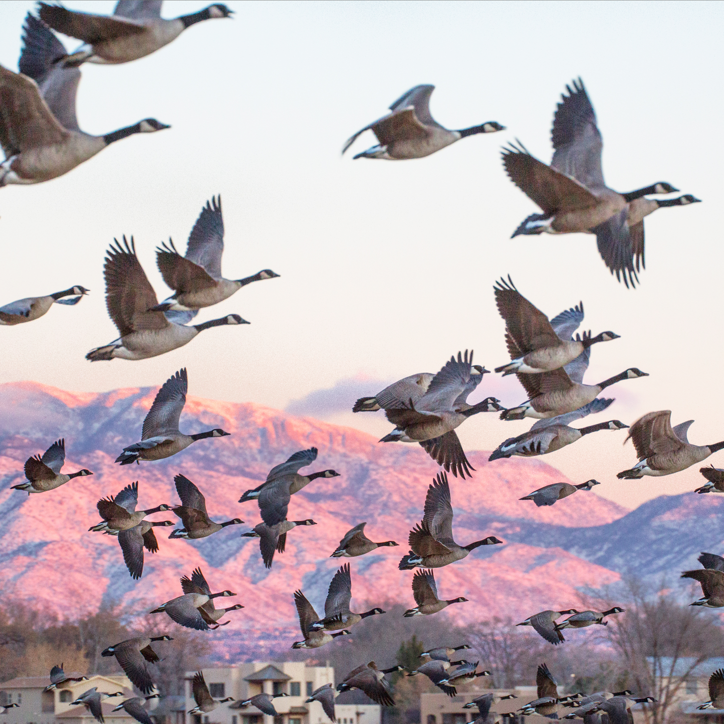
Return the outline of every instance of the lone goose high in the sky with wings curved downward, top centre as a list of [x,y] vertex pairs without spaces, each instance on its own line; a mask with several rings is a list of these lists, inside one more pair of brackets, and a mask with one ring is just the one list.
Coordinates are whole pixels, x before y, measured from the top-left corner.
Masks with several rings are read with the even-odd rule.
[[379,140],[355,159],[421,159],[450,146],[460,138],[476,133],[494,133],[505,130],[496,121],[488,121],[479,126],[460,130],[447,130],[433,119],[430,114],[430,96],[434,85],[416,85],[390,106],[390,113],[376,120],[345,141],[342,154],[352,146],[357,137],[371,130]]

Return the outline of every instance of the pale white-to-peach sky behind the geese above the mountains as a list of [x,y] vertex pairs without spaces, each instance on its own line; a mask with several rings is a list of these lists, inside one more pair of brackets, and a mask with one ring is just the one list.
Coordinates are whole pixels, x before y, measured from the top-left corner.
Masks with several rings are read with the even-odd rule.
[[[75,284],[91,290],[75,307],[0,329],[2,381],[101,391],[159,385],[188,366],[191,395],[285,408],[340,381],[369,379],[366,391],[339,387],[351,408],[357,392],[437,371],[458,350],[473,348],[487,369],[508,361],[492,285],[510,274],[549,316],[583,300],[585,329],[621,335],[593,348],[586,382],[629,366],[651,375],[610,388],[617,402],[579,426],[631,424],[670,408],[674,424],[696,419],[691,442],[724,439],[722,3],[228,4],[233,20],[195,25],[145,59],[83,66],[84,130],[105,133],[145,117],[169,130],[115,143],[57,180],[0,190],[0,303]],[[163,14],[205,6],[167,0]],[[114,3],[67,7],[108,13]],[[0,6],[0,63],[12,70],[32,8]],[[635,291],[611,277],[590,235],[510,240],[539,209],[505,176],[500,146],[520,138],[549,162],[555,105],[579,75],[597,111],[608,185],[668,181],[704,201],[647,218],[647,270]],[[376,143],[367,133],[340,156],[346,138],[419,83],[437,86],[431,109],[442,125],[495,120],[508,130],[426,159],[352,161]],[[245,287],[197,319],[235,312],[251,326],[211,329],[148,361],[85,361],[90,348],[117,337],[102,274],[113,237],[135,236],[160,300],[169,292],[154,247],[172,236],[185,249],[214,193],[224,204],[225,275],[270,268],[281,278]],[[473,400],[526,398],[513,377],[490,377]],[[316,415],[380,436],[391,429],[379,413],[353,416],[333,405]],[[530,424],[479,415],[459,433],[468,449],[492,450]],[[598,479],[597,494],[629,507],[703,482],[697,468],[616,481],[636,462],[631,444],[621,447],[625,435],[597,433],[544,459],[576,482]],[[710,461],[724,466],[724,452]]]

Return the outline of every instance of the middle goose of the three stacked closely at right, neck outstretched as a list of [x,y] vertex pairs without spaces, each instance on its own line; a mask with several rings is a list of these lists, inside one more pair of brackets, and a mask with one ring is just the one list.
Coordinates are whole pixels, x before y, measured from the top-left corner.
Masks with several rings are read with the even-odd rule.
[[503,410],[500,419],[522,420],[524,417],[542,419],[565,415],[592,403],[606,387],[616,382],[648,376],[648,372],[629,367],[598,384],[583,384],[574,382],[563,368],[542,374],[518,374],[518,380],[528,393],[528,400],[517,407]]

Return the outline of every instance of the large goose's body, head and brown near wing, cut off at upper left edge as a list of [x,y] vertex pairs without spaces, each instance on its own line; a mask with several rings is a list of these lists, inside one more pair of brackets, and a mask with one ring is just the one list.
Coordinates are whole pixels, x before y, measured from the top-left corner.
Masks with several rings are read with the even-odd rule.
[[[0,93],[6,111],[0,117],[0,145],[5,154],[0,188],[49,181],[72,171],[114,141],[169,128],[146,118],[101,136],[67,130],[51,113],[35,81],[1,65]],[[69,98],[75,104],[75,92]]]

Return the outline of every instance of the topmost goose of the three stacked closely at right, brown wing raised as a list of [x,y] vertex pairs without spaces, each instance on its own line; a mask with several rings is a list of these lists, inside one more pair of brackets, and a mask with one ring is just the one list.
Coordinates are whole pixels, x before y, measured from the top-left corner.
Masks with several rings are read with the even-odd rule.
[[548,321],[542,311],[518,292],[510,275],[508,282],[505,279],[496,282],[493,290],[498,312],[505,320],[508,350],[511,357],[515,355],[509,363],[495,368],[503,376],[550,372],[573,362],[596,342],[610,342],[620,337],[615,332],[601,332],[597,337],[584,334],[582,339],[571,339],[584,318],[583,302],[580,307],[576,306]]

